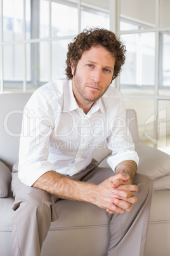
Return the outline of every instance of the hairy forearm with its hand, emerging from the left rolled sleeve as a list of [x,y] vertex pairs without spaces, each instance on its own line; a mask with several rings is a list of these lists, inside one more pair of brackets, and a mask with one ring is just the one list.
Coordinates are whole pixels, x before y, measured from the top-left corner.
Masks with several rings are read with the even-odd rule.
[[101,182],[99,185],[95,185],[72,180],[55,171],[49,171],[42,174],[32,187],[40,188],[63,199],[93,203],[100,208],[110,210],[110,213],[124,213],[128,209],[129,203],[121,201],[119,206],[116,203],[112,203],[112,199],[114,199],[112,184],[115,180],[118,180],[118,183],[121,184],[128,178],[118,174]]

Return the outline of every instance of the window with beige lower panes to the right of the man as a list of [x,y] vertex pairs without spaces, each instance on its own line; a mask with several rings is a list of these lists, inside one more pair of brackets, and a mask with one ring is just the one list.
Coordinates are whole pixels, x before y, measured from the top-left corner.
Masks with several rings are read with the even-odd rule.
[[121,0],[119,10],[127,58],[118,85],[126,108],[136,110],[140,139],[170,154],[169,1]]

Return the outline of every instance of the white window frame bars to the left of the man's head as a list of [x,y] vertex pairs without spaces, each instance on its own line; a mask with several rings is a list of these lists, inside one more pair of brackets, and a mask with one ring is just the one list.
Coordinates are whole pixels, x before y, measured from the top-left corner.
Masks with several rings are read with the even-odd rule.
[[[49,4],[49,34],[47,38],[32,38],[32,39],[27,39],[26,38],[26,31],[25,31],[25,0],[23,0],[23,40],[18,40],[18,41],[4,41],[3,37],[3,1],[5,0],[0,0],[0,5],[1,5],[1,42],[0,42],[0,47],[1,47],[1,59],[0,59],[0,66],[1,66],[1,88],[0,92],[4,92],[4,46],[6,45],[16,45],[16,44],[22,44],[23,45],[23,82],[9,82],[9,85],[12,83],[13,85],[18,84],[20,85],[20,88],[22,88],[23,92],[27,92],[27,89],[29,88],[29,82],[27,82],[27,55],[26,55],[26,45],[27,43],[40,43],[42,41],[48,41],[49,43],[49,52],[48,52],[48,68],[49,68],[49,76],[48,80],[51,80],[51,62],[52,62],[52,56],[51,56],[51,42],[52,41],[57,41],[57,40],[63,40],[63,39],[69,39],[70,41],[77,36],[77,34],[72,35],[72,36],[60,36],[59,37],[52,37],[51,36],[51,3],[52,0],[47,0]],[[34,8],[36,8],[36,2],[37,0],[31,0],[32,4],[34,5]],[[78,17],[78,23],[77,23],[77,31],[78,33],[81,32],[81,6],[84,6],[86,8],[91,8],[93,10],[97,11],[104,11],[108,13],[108,10],[105,10],[103,8],[100,8],[98,6],[94,6],[92,4],[86,4],[86,3],[81,3],[81,0],[53,0],[56,1],[57,3],[63,3],[63,4],[71,4],[73,6],[77,6],[77,17]],[[37,9],[37,8],[36,8]],[[37,10],[36,10],[37,11]],[[32,18],[36,20],[36,15],[35,11],[32,12]],[[35,17],[35,18],[34,18]],[[31,26],[32,27],[32,26]],[[34,48],[34,47],[33,47]],[[32,52],[32,56],[34,56],[34,53]],[[36,56],[37,59],[37,56]],[[36,61],[36,59],[34,61]],[[35,70],[31,70],[31,79],[34,80],[37,75],[35,75]],[[16,87],[14,86],[14,89]],[[35,88],[36,89],[36,88]]]

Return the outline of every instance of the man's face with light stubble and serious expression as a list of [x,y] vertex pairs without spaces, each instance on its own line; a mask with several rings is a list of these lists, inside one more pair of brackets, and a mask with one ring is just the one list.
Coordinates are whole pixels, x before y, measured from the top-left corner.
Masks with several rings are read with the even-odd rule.
[[79,106],[97,101],[107,91],[114,64],[114,57],[102,46],[93,46],[82,53],[75,75],[72,65],[72,89]]

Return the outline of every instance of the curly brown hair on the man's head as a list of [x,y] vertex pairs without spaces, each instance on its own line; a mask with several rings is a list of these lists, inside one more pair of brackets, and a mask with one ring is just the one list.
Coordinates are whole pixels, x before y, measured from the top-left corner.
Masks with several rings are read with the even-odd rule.
[[73,77],[71,62],[73,62],[76,71],[76,67],[81,59],[82,53],[89,50],[92,46],[98,45],[103,46],[106,50],[108,50],[108,52],[112,53],[112,56],[115,59],[114,75],[112,80],[119,75],[121,72],[121,66],[125,61],[126,48],[121,42],[121,39],[116,38],[114,32],[96,27],[84,29],[83,32],[74,38],[72,43],[69,43],[67,60],[65,61],[67,64],[67,68],[65,69],[67,79],[72,79]]

